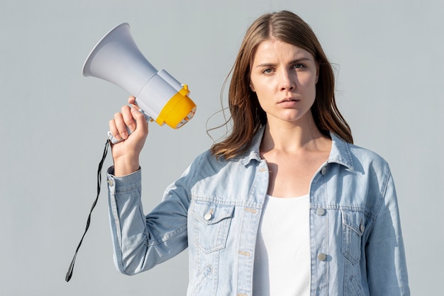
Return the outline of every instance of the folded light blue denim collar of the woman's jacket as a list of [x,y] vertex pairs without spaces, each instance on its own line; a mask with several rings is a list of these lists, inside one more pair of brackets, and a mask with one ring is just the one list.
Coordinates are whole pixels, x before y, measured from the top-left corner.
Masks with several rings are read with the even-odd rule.
[[[243,166],[247,166],[250,164],[250,161],[260,161],[260,143],[262,142],[262,137],[264,135],[265,125],[263,125],[260,130],[256,132],[256,135],[253,137],[250,148],[247,149],[246,152],[241,154],[239,157],[239,163]],[[350,154],[350,144],[345,142],[343,139],[335,135],[333,132],[330,132],[331,137],[331,151],[330,156],[328,156],[327,163],[335,163],[340,164],[348,169],[354,170],[353,160]]]

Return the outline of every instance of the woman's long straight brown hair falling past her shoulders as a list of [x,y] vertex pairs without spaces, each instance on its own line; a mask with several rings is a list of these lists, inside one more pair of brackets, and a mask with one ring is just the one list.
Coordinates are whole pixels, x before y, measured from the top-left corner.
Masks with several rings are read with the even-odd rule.
[[335,103],[333,67],[328,62],[321,43],[310,26],[299,16],[289,11],[279,11],[257,18],[245,34],[238,57],[228,74],[228,77],[232,74],[228,89],[231,118],[225,125],[231,121],[231,134],[225,140],[213,144],[211,153],[217,158],[222,156],[225,159],[242,154],[250,146],[255,132],[267,123],[267,115],[260,107],[256,94],[250,89],[250,67],[257,47],[270,38],[296,45],[313,55],[319,67],[316,98],[311,106],[314,122],[324,135],[329,136],[329,132],[334,132],[343,140],[353,143],[350,127]]

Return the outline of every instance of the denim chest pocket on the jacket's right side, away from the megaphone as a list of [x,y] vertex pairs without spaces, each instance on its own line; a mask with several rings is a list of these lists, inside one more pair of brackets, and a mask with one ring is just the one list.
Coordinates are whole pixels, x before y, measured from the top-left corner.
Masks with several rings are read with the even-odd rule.
[[361,241],[365,232],[365,214],[363,212],[342,210],[343,241],[341,252],[355,265],[361,258]]

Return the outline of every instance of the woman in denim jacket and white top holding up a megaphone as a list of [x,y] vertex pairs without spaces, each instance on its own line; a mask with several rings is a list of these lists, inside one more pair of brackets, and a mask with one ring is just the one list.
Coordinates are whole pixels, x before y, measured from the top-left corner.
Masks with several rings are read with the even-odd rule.
[[146,217],[138,157],[148,126],[135,106],[110,121],[124,140],[108,174],[119,270],[189,247],[187,295],[409,295],[389,166],[352,144],[309,25],[288,11],[260,16],[232,72],[231,135]]

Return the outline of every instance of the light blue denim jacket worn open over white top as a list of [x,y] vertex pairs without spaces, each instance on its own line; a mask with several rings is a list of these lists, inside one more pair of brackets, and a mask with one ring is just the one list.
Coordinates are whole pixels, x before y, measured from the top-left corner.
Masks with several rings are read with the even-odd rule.
[[[116,267],[146,271],[189,247],[187,295],[252,295],[255,241],[269,170],[263,130],[226,161],[198,156],[144,215],[140,170],[108,171]],[[377,154],[331,134],[310,196],[311,295],[410,295],[396,192]],[[283,220],[284,221],[284,220]]]

